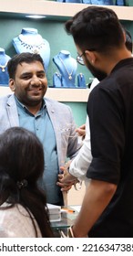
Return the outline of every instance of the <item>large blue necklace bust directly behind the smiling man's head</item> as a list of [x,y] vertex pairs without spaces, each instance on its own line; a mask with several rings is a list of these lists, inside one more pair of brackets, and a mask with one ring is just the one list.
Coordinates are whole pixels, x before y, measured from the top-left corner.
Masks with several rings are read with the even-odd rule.
[[18,37],[13,38],[16,53],[38,53],[42,57],[47,71],[50,59],[49,43],[38,34],[36,28],[24,27]]

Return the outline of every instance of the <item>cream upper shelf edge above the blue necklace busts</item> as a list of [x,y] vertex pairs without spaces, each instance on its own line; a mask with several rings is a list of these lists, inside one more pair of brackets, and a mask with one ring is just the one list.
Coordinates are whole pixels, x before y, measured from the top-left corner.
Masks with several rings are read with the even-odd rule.
[[[4,0],[0,4],[1,13],[17,15],[45,15],[55,17],[74,16],[78,11],[87,7],[86,4],[60,3],[44,0]],[[119,19],[133,20],[133,6],[107,5],[112,8]]]

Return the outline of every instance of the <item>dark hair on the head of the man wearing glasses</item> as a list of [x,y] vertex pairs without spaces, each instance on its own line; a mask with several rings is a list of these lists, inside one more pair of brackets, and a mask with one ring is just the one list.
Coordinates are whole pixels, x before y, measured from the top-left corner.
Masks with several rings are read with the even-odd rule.
[[68,34],[83,51],[108,53],[124,42],[122,26],[116,13],[101,6],[88,6],[66,22]]

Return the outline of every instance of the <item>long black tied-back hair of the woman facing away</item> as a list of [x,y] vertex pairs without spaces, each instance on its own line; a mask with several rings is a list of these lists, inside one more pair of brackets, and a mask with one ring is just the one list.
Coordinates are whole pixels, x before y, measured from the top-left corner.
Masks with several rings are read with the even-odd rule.
[[36,134],[12,127],[0,135],[0,205],[4,202],[10,207],[22,205],[32,219],[35,236],[34,218],[42,237],[54,237],[46,209],[46,194],[37,186],[43,172],[44,151]]

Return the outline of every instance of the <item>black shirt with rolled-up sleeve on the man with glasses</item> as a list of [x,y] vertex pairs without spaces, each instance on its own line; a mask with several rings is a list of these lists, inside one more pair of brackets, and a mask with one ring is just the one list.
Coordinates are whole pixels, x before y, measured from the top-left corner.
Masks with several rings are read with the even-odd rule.
[[121,60],[89,95],[93,160],[87,177],[117,184],[90,237],[133,237],[133,58]]

